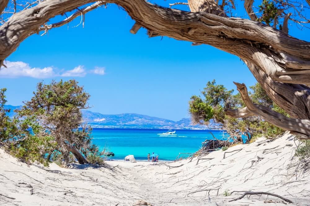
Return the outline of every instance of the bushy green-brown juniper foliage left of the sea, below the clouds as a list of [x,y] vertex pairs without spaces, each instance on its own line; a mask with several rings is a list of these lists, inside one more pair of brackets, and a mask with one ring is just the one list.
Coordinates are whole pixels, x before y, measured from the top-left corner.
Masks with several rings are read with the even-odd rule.
[[91,144],[92,128],[82,124],[81,110],[88,108],[89,97],[75,80],[39,82],[31,100],[17,110],[23,119],[21,129],[26,133],[29,131],[27,137],[49,142],[51,150],[45,151],[48,155],[57,155],[68,163],[69,155],[73,153],[80,164],[88,163],[89,154],[100,154],[97,146]]

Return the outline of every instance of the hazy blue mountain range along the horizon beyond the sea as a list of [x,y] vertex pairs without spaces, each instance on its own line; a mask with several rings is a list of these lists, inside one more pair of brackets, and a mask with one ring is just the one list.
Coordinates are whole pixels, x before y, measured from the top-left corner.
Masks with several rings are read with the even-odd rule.
[[[8,116],[14,116],[14,109],[21,106],[5,105],[5,108],[11,109]],[[154,128],[154,129],[217,129],[219,124],[211,122],[210,126],[192,125],[189,118],[183,118],[179,121],[167,120],[158,117],[140,115],[134,113],[124,113],[117,115],[104,115],[98,112],[88,110],[82,111],[83,119],[93,128]]]

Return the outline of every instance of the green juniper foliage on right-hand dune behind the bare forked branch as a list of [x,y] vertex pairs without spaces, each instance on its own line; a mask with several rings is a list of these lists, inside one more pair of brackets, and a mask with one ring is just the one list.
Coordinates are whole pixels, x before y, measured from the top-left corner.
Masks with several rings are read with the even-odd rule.
[[[266,94],[259,83],[250,86],[252,92],[249,96],[253,103],[262,104],[265,107],[276,110],[284,115],[287,113],[278,107]],[[215,80],[207,82],[206,87],[201,91],[201,96],[192,96],[189,101],[189,112],[194,124],[209,124],[213,119],[220,123],[222,128],[229,134],[236,137],[236,141],[243,142],[242,135],[251,137],[264,135],[275,137],[284,130],[269,124],[258,116],[234,119],[226,115],[226,109],[237,109],[245,107],[241,95],[233,94],[234,90],[227,90],[224,85],[216,84]],[[249,135],[250,134],[250,135]]]

